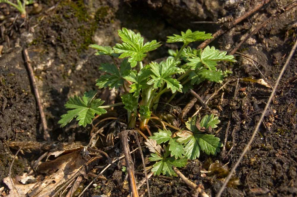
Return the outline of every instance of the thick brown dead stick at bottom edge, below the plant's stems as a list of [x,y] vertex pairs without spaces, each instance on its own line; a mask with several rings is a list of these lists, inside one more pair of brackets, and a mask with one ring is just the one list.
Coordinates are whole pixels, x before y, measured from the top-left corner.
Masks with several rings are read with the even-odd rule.
[[130,196],[139,197],[136,180],[134,176],[134,164],[130,155],[129,144],[128,144],[128,133],[130,130],[125,130],[121,132],[120,138],[122,142],[122,148],[125,155],[125,161],[127,166],[127,174],[129,178],[129,188],[130,188]]

